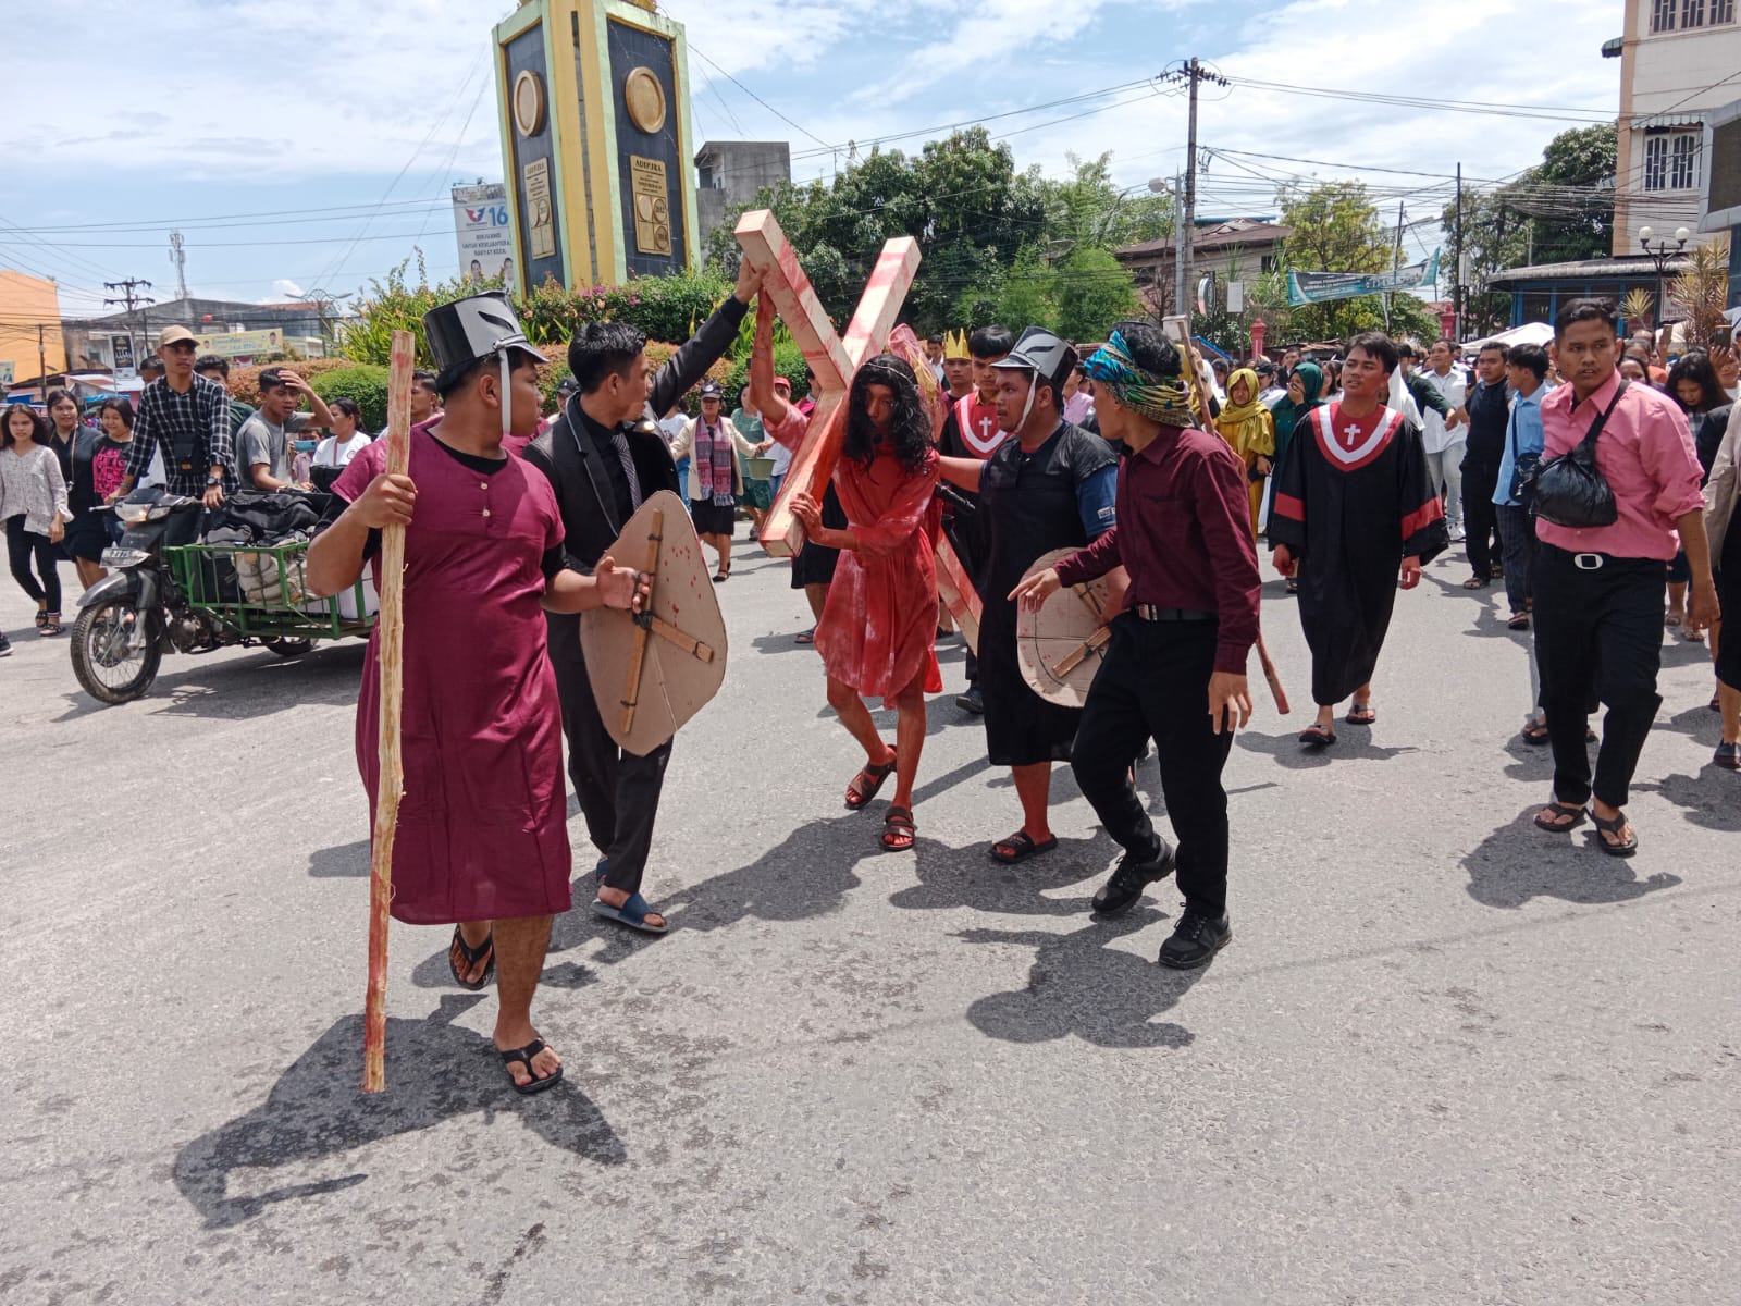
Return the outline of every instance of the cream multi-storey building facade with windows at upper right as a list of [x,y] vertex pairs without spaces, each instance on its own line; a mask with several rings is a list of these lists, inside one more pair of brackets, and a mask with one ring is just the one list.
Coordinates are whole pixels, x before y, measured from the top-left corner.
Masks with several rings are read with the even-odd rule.
[[[1736,96],[1741,0],[1626,0],[1619,40],[1621,113],[1616,160],[1614,254],[1637,254],[1638,232],[1656,239],[1685,226],[1699,235],[1708,160],[1706,117]],[[1614,42],[1603,47],[1610,52]]]

